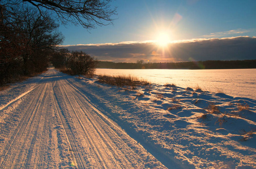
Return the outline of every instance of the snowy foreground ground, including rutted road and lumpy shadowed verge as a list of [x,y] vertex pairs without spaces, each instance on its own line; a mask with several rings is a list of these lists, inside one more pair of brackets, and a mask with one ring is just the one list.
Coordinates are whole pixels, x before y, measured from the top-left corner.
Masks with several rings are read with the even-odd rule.
[[0,98],[0,168],[256,168],[253,99],[55,69]]

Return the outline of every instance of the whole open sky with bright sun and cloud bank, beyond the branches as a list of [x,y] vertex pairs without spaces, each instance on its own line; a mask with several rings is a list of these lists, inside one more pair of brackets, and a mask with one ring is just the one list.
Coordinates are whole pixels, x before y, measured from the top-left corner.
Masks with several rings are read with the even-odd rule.
[[256,59],[255,0],[117,0],[112,6],[113,25],[61,25],[62,45],[115,62]]

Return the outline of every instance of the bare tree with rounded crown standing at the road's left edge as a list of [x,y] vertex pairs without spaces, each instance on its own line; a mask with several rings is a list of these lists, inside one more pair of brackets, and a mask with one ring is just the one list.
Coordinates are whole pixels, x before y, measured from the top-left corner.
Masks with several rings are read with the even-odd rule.
[[57,32],[59,25],[49,14],[43,14],[44,17],[35,8],[26,7],[20,11],[17,9],[12,16],[15,21],[12,27],[27,39],[23,44],[27,50],[22,54],[24,74],[42,71],[48,64],[46,56],[49,50],[56,48],[63,40],[62,34]]

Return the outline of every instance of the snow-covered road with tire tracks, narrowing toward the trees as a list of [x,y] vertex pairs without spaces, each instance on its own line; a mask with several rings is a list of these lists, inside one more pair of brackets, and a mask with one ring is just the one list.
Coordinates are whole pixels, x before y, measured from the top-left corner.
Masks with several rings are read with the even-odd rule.
[[9,92],[0,168],[164,168],[55,69]]

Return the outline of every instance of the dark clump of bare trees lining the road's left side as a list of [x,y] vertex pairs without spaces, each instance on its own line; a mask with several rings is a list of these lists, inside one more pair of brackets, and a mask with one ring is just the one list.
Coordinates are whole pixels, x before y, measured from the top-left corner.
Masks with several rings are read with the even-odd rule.
[[[0,0],[0,2],[2,2]],[[0,8],[0,85],[45,70],[50,52],[63,37],[58,24],[35,8]]]

